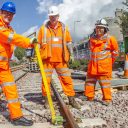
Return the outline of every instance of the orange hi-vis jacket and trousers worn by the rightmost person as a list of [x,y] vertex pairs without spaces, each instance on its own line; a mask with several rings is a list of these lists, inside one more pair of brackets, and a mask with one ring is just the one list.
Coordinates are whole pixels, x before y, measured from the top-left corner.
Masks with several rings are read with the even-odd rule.
[[90,60],[85,82],[85,95],[88,99],[94,98],[95,85],[98,81],[101,85],[103,100],[112,100],[110,87],[112,64],[118,56],[118,43],[113,36],[108,34],[100,39],[93,35],[89,40],[89,48]]

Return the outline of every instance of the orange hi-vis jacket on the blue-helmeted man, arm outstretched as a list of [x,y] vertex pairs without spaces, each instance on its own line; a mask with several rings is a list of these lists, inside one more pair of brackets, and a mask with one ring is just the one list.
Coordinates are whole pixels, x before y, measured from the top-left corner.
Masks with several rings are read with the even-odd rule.
[[14,45],[23,48],[31,47],[29,38],[16,34],[11,26],[7,26],[0,17],[0,68],[8,68]]

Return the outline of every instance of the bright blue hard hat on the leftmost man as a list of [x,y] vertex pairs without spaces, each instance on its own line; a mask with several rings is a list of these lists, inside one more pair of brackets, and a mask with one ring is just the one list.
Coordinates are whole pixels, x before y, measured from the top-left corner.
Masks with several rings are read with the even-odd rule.
[[15,4],[13,2],[5,2],[2,5],[1,10],[11,12],[13,14],[16,13],[16,7],[15,7]]

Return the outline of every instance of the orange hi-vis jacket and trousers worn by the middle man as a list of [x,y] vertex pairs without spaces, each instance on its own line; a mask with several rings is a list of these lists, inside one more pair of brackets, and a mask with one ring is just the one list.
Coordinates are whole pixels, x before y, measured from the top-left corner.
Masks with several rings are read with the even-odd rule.
[[[49,26],[49,21],[41,26],[38,33],[38,41],[40,43],[40,53],[44,63],[44,69],[47,77],[48,86],[50,83],[53,70],[55,69],[64,93],[67,96],[74,96],[73,83],[67,62],[70,56],[70,46],[72,39],[68,28],[58,21],[56,29]],[[46,91],[42,81],[42,95],[46,96]]]

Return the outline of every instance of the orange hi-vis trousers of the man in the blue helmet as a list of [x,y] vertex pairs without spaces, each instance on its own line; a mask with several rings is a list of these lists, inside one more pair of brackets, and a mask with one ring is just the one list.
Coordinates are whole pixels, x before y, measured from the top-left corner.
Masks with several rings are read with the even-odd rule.
[[18,100],[17,87],[10,69],[0,69],[0,85],[8,102],[10,118],[15,119],[23,116]]

